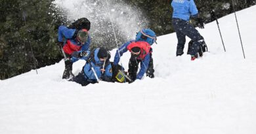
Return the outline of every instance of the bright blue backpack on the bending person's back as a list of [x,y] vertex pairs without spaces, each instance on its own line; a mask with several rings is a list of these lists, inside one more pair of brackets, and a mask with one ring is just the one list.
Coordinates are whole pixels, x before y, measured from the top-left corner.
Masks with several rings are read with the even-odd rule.
[[156,33],[151,29],[142,29],[137,33],[135,41],[146,41],[152,45],[156,42]]

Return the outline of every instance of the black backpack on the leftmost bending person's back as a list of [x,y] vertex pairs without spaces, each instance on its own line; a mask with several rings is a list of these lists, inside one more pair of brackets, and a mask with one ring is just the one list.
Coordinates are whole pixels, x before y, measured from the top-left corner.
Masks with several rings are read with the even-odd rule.
[[87,18],[79,18],[75,20],[70,26],[70,29],[87,29],[87,31],[91,28],[91,22]]

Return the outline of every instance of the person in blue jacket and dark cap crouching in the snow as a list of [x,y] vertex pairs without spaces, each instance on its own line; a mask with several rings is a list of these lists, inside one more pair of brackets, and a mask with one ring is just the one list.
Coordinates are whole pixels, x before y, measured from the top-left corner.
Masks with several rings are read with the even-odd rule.
[[77,82],[82,86],[95,84],[98,80],[112,82],[112,66],[109,61],[110,53],[105,48],[96,48],[89,52],[78,52],[75,58],[85,59],[81,73],[74,76],[70,81]]

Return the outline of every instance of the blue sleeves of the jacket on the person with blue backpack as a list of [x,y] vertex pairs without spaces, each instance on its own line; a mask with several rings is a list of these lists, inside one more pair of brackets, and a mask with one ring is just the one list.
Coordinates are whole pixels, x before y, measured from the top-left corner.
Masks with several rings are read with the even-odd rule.
[[[127,46],[129,44],[131,44],[131,42],[135,42],[135,41],[128,41],[125,44],[123,44],[122,46],[120,46],[118,48],[118,50],[116,50],[116,55],[114,58],[114,65],[118,65],[119,60],[120,60],[119,54],[120,54],[120,56],[123,56],[123,53],[128,51]],[[119,54],[118,54],[118,52],[119,52]],[[143,77],[143,75],[146,73],[146,69],[148,69],[149,62],[150,62],[150,54],[147,54],[146,57],[144,59],[142,59],[142,61],[140,63],[140,71],[137,74],[137,79],[140,80]]]

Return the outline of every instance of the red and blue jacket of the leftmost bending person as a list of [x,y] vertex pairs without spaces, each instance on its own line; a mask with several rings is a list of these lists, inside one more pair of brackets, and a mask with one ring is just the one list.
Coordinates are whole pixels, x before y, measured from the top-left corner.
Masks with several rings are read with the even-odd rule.
[[[58,41],[64,42],[63,50],[66,54],[72,55],[77,51],[87,51],[89,50],[89,46],[91,44],[91,37],[88,36],[87,42],[85,44],[81,44],[76,41],[74,34],[76,29],[68,29],[68,27],[64,25],[60,25],[58,27]],[[74,59],[72,61],[77,61]]]

